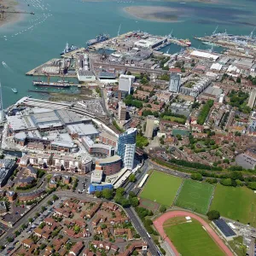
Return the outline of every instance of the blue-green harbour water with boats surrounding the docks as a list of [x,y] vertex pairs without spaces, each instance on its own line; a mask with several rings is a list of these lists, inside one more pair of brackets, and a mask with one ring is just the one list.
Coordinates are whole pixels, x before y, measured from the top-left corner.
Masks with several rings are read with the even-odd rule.
[[[189,38],[195,48],[211,47],[195,41],[193,37],[227,29],[230,33],[249,34],[256,26],[256,3],[250,0],[219,0],[218,3],[185,4],[154,1],[102,1],[79,0],[20,0],[21,5],[35,15],[25,15],[15,24],[0,28],[0,81],[3,87],[3,106],[21,96],[45,95],[29,93],[33,90],[32,77],[25,73],[45,61],[58,57],[65,44],[84,46],[99,33],[116,36],[120,33],[143,30],[166,35],[172,32],[177,38]],[[29,6],[28,6],[29,4]],[[123,10],[129,6],[167,6],[178,9],[177,22],[156,22],[137,19]],[[156,14],[160,15],[160,14]],[[164,14],[166,15],[166,14]],[[254,23],[254,24],[253,24]],[[169,49],[170,48],[170,49]],[[180,47],[167,46],[172,54]],[[5,62],[5,65],[2,64]],[[17,88],[18,93],[11,88]]]

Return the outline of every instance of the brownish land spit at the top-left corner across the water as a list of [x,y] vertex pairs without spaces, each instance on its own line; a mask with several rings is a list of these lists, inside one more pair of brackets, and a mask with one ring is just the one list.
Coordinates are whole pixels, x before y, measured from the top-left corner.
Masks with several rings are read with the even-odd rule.
[[[19,0],[0,0],[0,5],[3,5],[4,10],[7,11],[22,11]],[[20,14],[4,14],[4,20],[0,20],[0,28],[14,25],[20,20],[22,20],[22,15]]]

